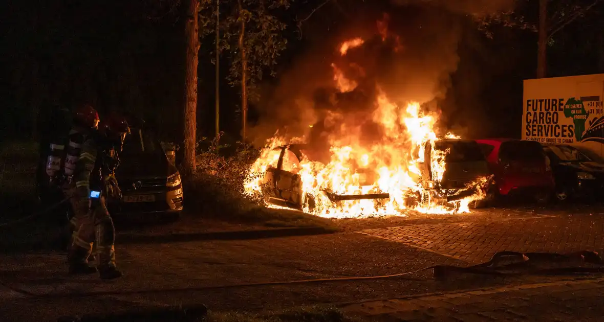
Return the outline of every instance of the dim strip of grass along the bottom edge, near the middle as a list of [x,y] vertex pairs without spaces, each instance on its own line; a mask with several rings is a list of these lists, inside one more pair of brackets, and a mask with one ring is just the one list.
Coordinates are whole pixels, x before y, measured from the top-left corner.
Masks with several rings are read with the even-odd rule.
[[207,322],[360,322],[333,307],[311,306],[263,314],[239,314],[234,312],[208,312]]

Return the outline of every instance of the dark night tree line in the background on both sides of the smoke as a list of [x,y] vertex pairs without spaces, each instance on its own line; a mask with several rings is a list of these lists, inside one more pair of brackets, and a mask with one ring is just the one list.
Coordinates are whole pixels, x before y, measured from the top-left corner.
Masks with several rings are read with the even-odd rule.
[[[544,1],[546,33],[539,42],[539,4]],[[388,2],[382,2],[387,9]],[[517,2],[515,11],[479,24],[493,36],[480,40],[483,46],[521,53],[510,70],[524,72],[512,77],[507,71],[501,82],[517,83],[546,70],[549,77],[604,72],[604,1]],[[303,52],[301,36],[320,39],[334,21],[345,28],[363,13],[363,5],[367,1],[220,0],[220,129],[240,137],[243,120],[253,122],[255,86]],[[3,139],[36,137],[37,121],[53,104],[88,102],[101,113],[136,113],[155,123],[163,139],[187,142],[186,166],[192,168],[195,142],[216,130],[216,0],[24,0],[1,6]],[[463,72],[460,66],[458,74]],[[451,95],[469,95],[464,91],[454,86]],[[513,92],[521,96],[521,89]],[[243,118],[248,110],[251,115]]]

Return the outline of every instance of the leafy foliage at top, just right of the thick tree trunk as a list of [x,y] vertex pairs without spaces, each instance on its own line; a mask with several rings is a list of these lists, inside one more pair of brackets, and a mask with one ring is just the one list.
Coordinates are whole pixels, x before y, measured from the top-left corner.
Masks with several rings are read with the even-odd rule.
[[[266,72],[275,75],[277,59],[287,46],[288,41],[283,36],[287,25],[278,16],[289,8],[290,1],[241,0],[243,10],[239,11],[237,0],[220,0],[219,51],[220,56],[226,58],[231,66],[227,79],[231,86],[240,86],[242,81],[239,35],[243,20],[246,84],[252,99],[255,96],[255,85],[265,77]],[[202,2],[199,25],[201,37],[208,41],[216,37],[216,1]],[[215,54],[214,52],[212,57]]]

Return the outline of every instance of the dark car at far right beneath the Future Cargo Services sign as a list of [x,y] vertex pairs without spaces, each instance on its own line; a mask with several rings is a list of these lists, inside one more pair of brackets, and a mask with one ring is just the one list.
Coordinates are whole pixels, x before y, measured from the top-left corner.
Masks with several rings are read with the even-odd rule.
[[565,144],[544,145],[556,182],[557,200],[597,198],[604,191],[604,160]]

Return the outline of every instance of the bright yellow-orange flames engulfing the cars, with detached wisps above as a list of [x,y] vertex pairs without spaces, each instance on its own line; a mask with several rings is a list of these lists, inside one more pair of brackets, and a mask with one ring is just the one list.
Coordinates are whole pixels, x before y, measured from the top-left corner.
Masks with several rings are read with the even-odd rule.
[[[344,42],[339,53],[343,56],[350,48],[362,43],[360,38]],[[357,83],[354,80],[347,79],[336,64],[332,64],[332,68],[334,86],[340,92],[355,89]],[[301,178],[302,188],[299,193],[304,212],[330,218],[404,215],[407,210],[422,213],[469,212],[468,204],[484,197],[481,189],[477,189],[471,197],[443,204],[431,201],[439,192],[425,188],[420,180],[420,169],[426,161],[431,162],[434,181],[441,180],[445,173],[446,151],[433,150],[431,160],[424,160],[426,142],[433,147],[439,139],[435,131],[438,115],[426,113],[417,102],[396,104],[379,86],[376,90],[377,98],[371,121],[379,126],[382,135],[379,144],[363,144],[359,126],[347,122],[338,123],[344,119],[344,115],[332,112],[330,117],[336,120],[335,124],[340,124],[340,135],[327,139],[330,146],[329,162],[310,160],[305,155],[298,160],[294,153],[284,153],[282,167],[297,173]],[[446,137],[459,138],[450,133]],[[246,191],[249,194],[263,193],[265,173],[269,167],[276,168],[280,158],[281,151],[275,148],[303,141],[304,137],[286,140],[278,135],[269,139],[261,156],[251,167],[251,174],[245,183]],[[359,169],[374,172],[376,175],[373,182],[364,182],[363,172]],[[334,202],[326,192],[337,195],[387,193],[390,197]]]

